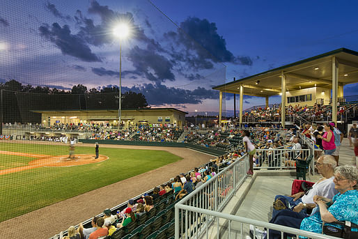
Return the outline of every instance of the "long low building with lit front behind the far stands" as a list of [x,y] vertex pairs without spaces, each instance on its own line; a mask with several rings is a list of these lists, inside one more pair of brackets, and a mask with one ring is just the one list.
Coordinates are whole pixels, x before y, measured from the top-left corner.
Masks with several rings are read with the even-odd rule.
[[[70,123],[99,123],[102,125],[118,125],[118,109],[101,110],[46,110],[34,111],[41,114],[41,123],[49,126]],[[122,125],[124,128],[165,123],[185,125],[187,112],[174,108],[123,109]]]

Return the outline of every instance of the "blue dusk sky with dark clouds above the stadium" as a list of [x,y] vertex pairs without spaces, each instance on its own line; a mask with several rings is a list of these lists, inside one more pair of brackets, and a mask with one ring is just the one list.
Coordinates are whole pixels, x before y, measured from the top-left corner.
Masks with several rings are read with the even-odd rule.
[[[111,29],[125,21],[132,34],[122,42],[123,91],[188,112],[217,114],[211,88],[233,77],[341,47],[358,51],[357,1],[1,2],[1,82],[118,86],[119,40]],[[344,90],[357,95],[358,84]],[[244,109],[264,103],[247,96]],[[225,105],[232,114],[232,95]]]

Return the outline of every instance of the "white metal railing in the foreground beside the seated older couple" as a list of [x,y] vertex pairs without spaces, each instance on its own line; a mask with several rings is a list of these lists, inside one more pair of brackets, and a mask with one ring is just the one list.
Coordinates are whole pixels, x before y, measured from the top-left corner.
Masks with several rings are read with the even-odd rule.
[[[281,238],[284,238],[284,233],[288,233],[297,236],[297,238],[299,238],[299,236],[305,236],[312,239],[336,239],[332,236],[220,213],[247,178],[247,157],[248,155],[240,157],[239,160],[236,160],[207,183],[201,185],[198,189],[194,190],[194,192],[176,203],[176,239],[215,237],[219,239],[222,238],[220,234],[221,230],[228,232],[228,238],[231,238],[231,226],[233,223],[235,223],[236,229],[233,231],[238,231],[238,225],[240,225],[240,238],[244,238],[244,231],[248,231],[249,224],[253,224],[254,226],[266,228],[269,232],[270,230],[279,231]],[[215,229],[215,226],[212,226],[214,222],[216,222],[217,228],[216,235],[213,234],[215,231],[212,230]],[[254,231],[254,238],[256,238],[255,233]],[[237,237],[235,236],[235,238]],[[270,239],[269,234],[267,234],[267,239]]]

